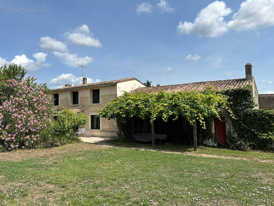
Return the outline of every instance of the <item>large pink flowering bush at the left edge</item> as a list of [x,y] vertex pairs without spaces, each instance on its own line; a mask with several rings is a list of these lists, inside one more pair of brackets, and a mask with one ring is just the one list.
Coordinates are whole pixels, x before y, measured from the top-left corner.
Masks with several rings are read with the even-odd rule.
[[[6,95],[6,96],[5,96]],[[40,144],[50,102],[42,87],[15,79],[1,82],[0,147],[6,150],[33,148]]]

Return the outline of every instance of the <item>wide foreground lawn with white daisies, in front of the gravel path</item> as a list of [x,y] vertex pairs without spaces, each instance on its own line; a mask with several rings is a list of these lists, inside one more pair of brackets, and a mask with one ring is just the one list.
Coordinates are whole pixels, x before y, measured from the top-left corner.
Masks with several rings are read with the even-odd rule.
[[274,205],[273,173],[272,162],[66,144],[0,153],[0,205]]

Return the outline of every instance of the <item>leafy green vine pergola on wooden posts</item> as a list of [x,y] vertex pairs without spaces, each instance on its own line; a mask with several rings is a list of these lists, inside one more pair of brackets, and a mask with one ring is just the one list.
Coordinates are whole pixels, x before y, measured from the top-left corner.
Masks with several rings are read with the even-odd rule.
[[99,115],[102,118],[117,119],[119,127],[119,142],[122,142],[121,123],[125,123],[127,117],[147,118],[151,122],[152,146],[154,146],[154,120],[162,118],[176,120],[183,116],[193,125],[194,150],[197,149],[196,122],[205,129],[204,119],[208,117],[219,118],[219,112],[226,110],[233,117],[228,107],[228,97],[207,88],[201,92],[177,92],[165,93],[159,91],[154,94],[137,92],[130,94],[125,92],[109,102]]

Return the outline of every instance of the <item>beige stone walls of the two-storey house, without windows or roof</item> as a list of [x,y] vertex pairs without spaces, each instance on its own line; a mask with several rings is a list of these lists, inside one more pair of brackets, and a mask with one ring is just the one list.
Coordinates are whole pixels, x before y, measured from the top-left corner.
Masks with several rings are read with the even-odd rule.
[[[68,86],[71,87],[71,86]],[[136,79],[130,79],[128,81],[122,81],[107,85],[94,85],[87,86],[82,85],[80,88],[65,88],[65,89],[53,89],[48,94],[49,99],[54,99],[54,94],[59,94],[59,105],[52,106],[52,110],[55,111],[58,107],[62,108],[74,108],[80,109],[85,116],[89,118],[89,123],[85,126],[84,137],[117,137],[117,123],[115,119],[105,119],[100,117],[100,129],[91,129],[91,115],[97,115],[99,110],[115,99],[117,96],[123,94],[123,91],[131,92],[132,90],[144,87]],[[93,103],[93,90],[99,90],[100,101],[99,103]],[[72,92],[78,91],[78,104],[72,104]]]

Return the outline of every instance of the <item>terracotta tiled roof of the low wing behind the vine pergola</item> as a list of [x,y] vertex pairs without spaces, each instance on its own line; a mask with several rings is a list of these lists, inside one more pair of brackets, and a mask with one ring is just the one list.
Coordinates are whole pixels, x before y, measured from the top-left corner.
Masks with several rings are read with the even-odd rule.
[[247,84],[251,84],[252,81],[243,79],[227,79],[227,80],[217,80],[217,81],[201,81],[201,82],[194,82],[194,83],[186,83],[186,84],[175,84],[175,85],[168,85],[168,86],[158,86],[158,87],[143,87],[134,90],[131,93],[136,92],[147,92],[149,94],[159,92],[163,90],[166,93],[172,92],[182,92],[182,91],[202,91],[205,90],[207,87],[213,87],[217,90],[223,89],[232,89],[232,88],[241,88]]

